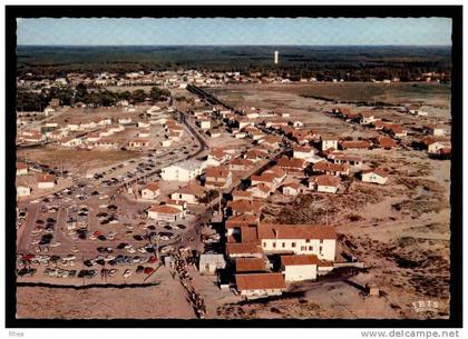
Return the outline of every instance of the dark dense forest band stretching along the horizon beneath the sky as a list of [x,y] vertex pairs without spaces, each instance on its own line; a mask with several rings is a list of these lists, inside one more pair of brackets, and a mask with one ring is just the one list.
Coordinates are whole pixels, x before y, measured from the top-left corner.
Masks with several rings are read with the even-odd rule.
[[[368,81],[398,77],[413,80],[425,72],[451,72],[450,48],[429,47],[127,47],[18,49],[18,76],[28,79],[64,77],[80,72],[125,76],[134,71],[196,69],[244,74],[261,72]],[[32,73],[33,76],[27,76]]]

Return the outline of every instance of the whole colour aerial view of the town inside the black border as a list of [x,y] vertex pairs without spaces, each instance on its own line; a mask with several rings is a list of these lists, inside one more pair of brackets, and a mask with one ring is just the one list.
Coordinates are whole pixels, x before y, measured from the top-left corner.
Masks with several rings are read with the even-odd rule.
[[18,20],[18,319],[449,318],[450,19],[238,20]]

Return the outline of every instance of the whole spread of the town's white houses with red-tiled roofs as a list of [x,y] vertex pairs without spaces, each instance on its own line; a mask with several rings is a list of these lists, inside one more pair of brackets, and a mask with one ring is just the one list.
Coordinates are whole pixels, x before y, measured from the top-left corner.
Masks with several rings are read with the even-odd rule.
[[[425,79],[431,81],[432,76],[427,74]],[[19,79],[18,87],[163,86],[191,92],[197,89],[199,93],[204,92],[203,86],[254,81],[284,83],[290,80],[259,79],[256,74],[246,78],[235,72],[135,72],[125,78],[111,73],[95,78],[69,73],[53,80]],[[206,93],[206,98],[209,96]],[[350,128],[360,126],[372,134],[352,139],[319,131],[287,112],[231,108],[211,103],[206,98],[194,100],[185,110],[176,107],[174,100],[156,104],[120,100],[111,108],[76,102],[72,109],[82,113],[67,119],[59,118],[64,107],[53,98],[42,112],[17,112],[17,146],[115,150],[144,157],[157,150],[189,146],[193,141],[186,138],[197,138],[204,144],[203,159],[187,156],[167,166],[162,163],[156,175],[145,177],[142,171],[136,179],[120,177],[116,179],[123,185],[118,192],[146,203],[144,213],[148,222],[160,226],[183,222],[193,216],[191,208],[202,206],[204,212],[209,212],[209,221],[204,227],[213,225],[208,227],[209,236],[202,237],[203,241],[218,247],[199,253],[198,271],[220,275],[221,289],[233,288],[246,298],[279,296],[291,282],[314,280],[335,268],[362,265],[337,259],[338,236],[333,225],[270,222],[264,215],[266,201],[292,201],[304,195],[340,195],[352,181],[384,186],[392,180],[388,169],[370,164],[365,157],[351,154],[351,151],[412,148],[436,159],[449,159],[451,153],[449,133],[441,123],[410,127],[373,109],[355,112],[343,104],[323,112],[345,121]],[[89,109],[94,109],[91,113]],[[417,119],[428,116],[418,104],[408,104],[400,112]],[[226,146],[223,141],[226,138],[242,144]],[[21,183],[21,178],[28,176],[33,176],[35,180]],[[41,199],[58,187],[64,189],[58,182],[64,180],[64,173],[50,173],[33,161],[18,162],[17,177],[17,195],[21,201]],[[82,173],[82,177],[99,179],[97,173]],[[170,259],[170,248],[163,253],[168,257],[167,265],[177,262]],[[227,272],[227,277],[220,272]]]

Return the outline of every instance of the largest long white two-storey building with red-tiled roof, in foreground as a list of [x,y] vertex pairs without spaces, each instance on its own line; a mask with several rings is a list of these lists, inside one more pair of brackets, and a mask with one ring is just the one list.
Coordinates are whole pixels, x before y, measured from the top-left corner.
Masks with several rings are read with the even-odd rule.
[[265,253],[315,255],[321,260],[334,261],[333,226],[260,223],[257,232]]

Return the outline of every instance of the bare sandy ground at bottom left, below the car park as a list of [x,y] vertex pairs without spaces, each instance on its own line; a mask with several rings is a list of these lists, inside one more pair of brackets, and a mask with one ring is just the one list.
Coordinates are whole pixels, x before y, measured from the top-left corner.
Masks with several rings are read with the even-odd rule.
[[[152,279],[157,286],[81,290],[18,287],[17,317],[35,319],[188,319],[195,315],[181,283],[167,268]],[[170,302],[167,302],[170,300]]]

